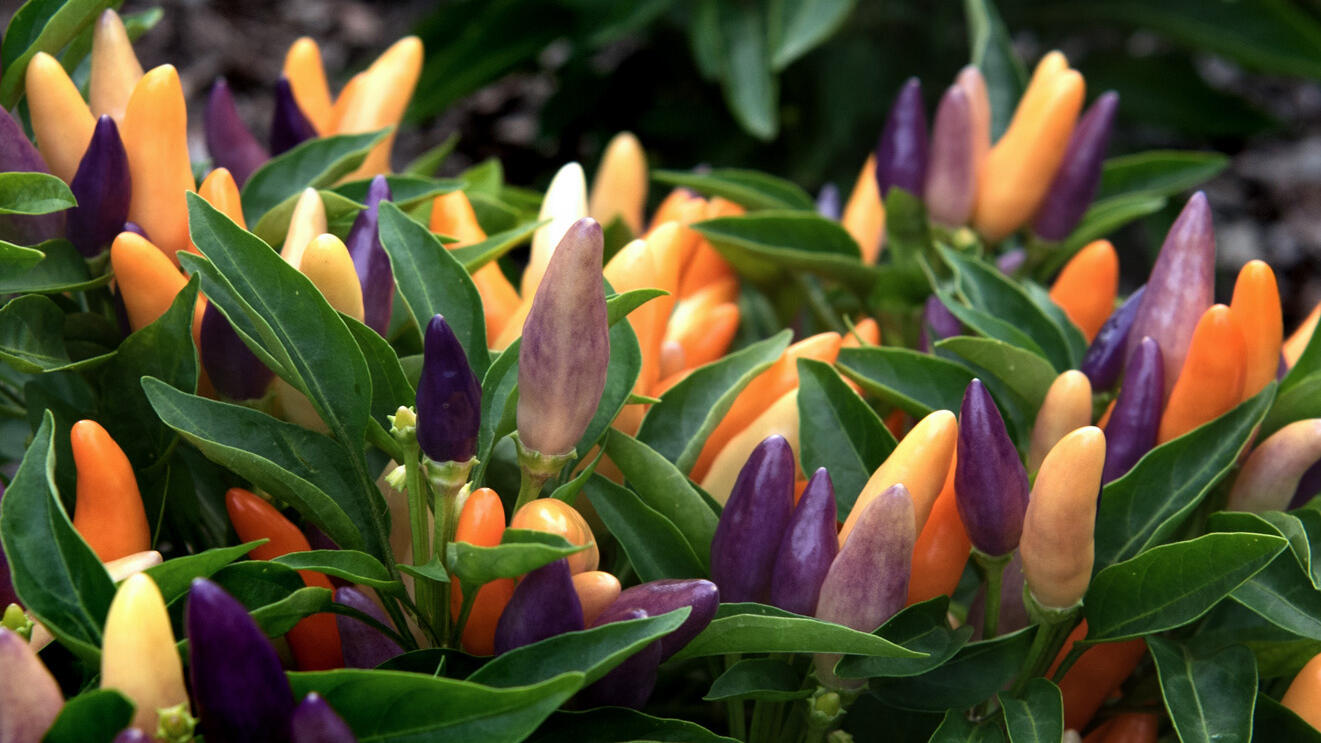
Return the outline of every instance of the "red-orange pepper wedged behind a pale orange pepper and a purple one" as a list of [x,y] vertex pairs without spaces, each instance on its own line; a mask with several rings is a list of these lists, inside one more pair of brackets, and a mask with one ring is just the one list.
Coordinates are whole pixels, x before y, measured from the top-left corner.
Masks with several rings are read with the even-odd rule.
[[959,579],[963,578],[963,568],[968,565],[972,542],[963,529],[963,521],[959,520],[959,506],[954,496],[954,472],[958,465],[951,464],[954,465],[945,477],[941,494],[931,505],[931,516],[927,517],[913,545],[908,604],[954,594],[959,587]]

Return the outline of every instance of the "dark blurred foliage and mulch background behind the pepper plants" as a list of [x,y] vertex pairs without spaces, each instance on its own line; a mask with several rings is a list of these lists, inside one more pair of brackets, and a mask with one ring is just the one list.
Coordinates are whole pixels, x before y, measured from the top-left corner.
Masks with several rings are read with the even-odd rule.
[[[974,3],[976,4],[976,3]],[[0,25],[17,0],[0,3]],[[1091,100],[1122,97],[1110,153],[1214,149],[1206,190],[1227,299],[1264,258],[1287,321],[1321,300],[1321,1],[1000,0],[1030,71],[1062,49]],[[159,11],[157,11],[159,9]],[[498,157],[542,188],[567,160],[590,173],[605,141],[635,132],[653,167],[745,167],[815,192],[848,189],[910,75],[929,111],[970,58],[962,3],[919,0],[127,0],[145,67],[172,62],[199,112],[229,79],[262,136],[284,52],[316,38],[336,87],[400,36],[427,65],[395,145],[403,165],[452,135],[441,175]],[[653,194],[658,201],[660,193]],[[1129,287],[1182,200],[1115,235]]]

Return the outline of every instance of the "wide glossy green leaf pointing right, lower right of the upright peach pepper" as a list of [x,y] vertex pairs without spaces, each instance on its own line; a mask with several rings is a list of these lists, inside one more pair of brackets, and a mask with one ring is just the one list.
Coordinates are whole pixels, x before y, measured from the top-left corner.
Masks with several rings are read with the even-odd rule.
[[1283,538],[1266,534],[1206,534],[1112,565],[1092,578],[1083,599],[1087,639],[1127,640],[1182,627],[1287,546]]

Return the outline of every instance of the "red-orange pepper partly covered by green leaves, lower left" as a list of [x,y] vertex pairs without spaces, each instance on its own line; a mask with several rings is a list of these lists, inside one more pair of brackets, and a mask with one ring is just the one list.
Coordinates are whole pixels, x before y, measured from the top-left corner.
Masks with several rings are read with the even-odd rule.
[[[280,555],[305,553],[312,549],[308,545],[308,538],[303,535],[303,531],[299,531],[297,526],[255,493],[242,488],[230,488],[225,493],[225,510],[229,512],[230,522],[234,524],[239,539],[244,542],[269,539],[248,553],[252,559],[275,559]],[[322,572],[300,570],[299,575],[308,586],[328,591],[334,590],[330,579]],[[293,629],[289,629],[287,637],[300,669],[343,668],[339,629],[336,627],[333,613],[314,613],[300,620],[293,625]]]

